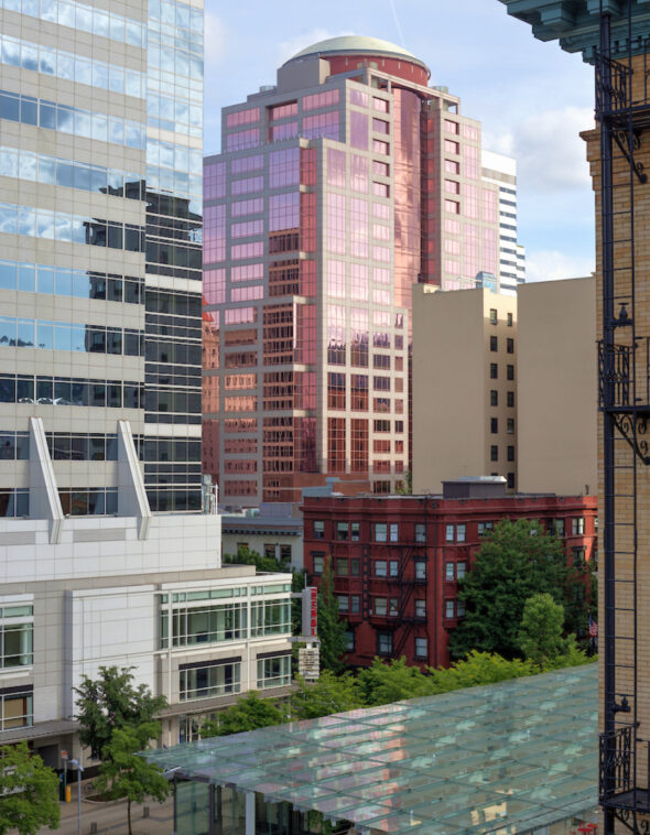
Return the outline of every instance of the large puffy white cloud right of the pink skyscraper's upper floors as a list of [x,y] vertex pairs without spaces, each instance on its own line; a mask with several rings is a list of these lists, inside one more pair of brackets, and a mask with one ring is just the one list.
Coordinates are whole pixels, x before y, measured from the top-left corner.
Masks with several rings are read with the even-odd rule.
[[527,116],[510,130],[485,133],[484,145],[517,159],[519,188],[533,196],[591,186],[582,130],[594,127],[591,108],[563,107]]

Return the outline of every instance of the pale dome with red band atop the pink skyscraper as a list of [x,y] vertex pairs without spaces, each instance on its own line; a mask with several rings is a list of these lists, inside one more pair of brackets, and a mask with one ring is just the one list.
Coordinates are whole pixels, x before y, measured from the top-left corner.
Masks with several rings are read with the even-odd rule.
[[321,57],[329,62],[332,75],[356,69],[362,62],[375,62],[378,68],[416,84],[426,85],[431,75],[429,67],[413,53],[379,37],[340,35],[312,44],[289,58],[283,66],[307,58]]

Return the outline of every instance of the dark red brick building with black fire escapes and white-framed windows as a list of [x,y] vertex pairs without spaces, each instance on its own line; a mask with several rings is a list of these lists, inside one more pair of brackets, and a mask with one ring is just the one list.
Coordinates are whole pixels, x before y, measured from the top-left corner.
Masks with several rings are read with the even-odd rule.
[[332,560],[350,664],[376,655],[448,664],[448,635],[464,614],[457,581],[500,519],[540,520],[562,536],[567,559],[596,555],[595,496],[506,496],[505,482],[490,478],[444,488],[443,496],[304,499],[304,565],[318,584]]

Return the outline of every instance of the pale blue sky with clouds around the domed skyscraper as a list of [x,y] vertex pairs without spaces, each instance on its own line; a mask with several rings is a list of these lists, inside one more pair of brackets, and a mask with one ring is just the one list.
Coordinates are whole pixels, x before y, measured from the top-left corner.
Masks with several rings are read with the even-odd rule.
[[483,123],[483,145],[518,165],[527,280],[594,270],[594,198],[585,143],[593,69],[541,43],[499,0],[205,0],[205,153],[220,151],[220,109],[274,84],[284,61],[344,34],[391,41],[431,69]]

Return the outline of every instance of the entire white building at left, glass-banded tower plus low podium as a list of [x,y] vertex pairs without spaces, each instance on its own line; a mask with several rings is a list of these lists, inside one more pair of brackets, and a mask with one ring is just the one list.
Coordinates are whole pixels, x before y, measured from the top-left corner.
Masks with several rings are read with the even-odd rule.
[[101,665],[167,742],[285,684],[290,577],[202,485],[202,0],[0,7],[0,745],[57,766]]

